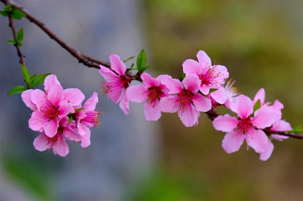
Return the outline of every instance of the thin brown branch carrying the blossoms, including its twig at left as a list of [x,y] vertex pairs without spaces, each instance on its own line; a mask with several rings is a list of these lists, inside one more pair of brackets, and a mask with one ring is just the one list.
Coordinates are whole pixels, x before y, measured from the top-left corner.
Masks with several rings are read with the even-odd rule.
[[[5,3],[5,4],[12,4],[12,6],[18,8],[19,10],[21,10],[22,12],[24,12],[26,14],[26,18],[31,21],[32,23],[36,24],[38,27],[40,27],[51,39],[55,40],[60,46],[62,46],[62,48],[66,49],[70,54],[72,54],[72,56],[74,56],[75,58],[78,59],[79,63],[83,63],[84,65],[88,66],[88,67],[93,67],[96,69],[100,69],[99,64],[103,65],[109,69],[111,69],[111,65],[108,62],[104,62],[98,59],[95,59],[91,56],[88,56],[86,54],[83,54],[81,51],[72,48],[71,46],[69,46],[67,43],[65,43],[63,40],[61,40],[58,36],[56,36],[50,29],[48,29],[45,24],[43,24],[41,21],[39,21],[38,19],[36,19],[34,16],[32,16],[28,11],[26,11],[22,6],[18,5],[17,3],[15,3],[12,0],[0,0],[1,2]],[[10,18],[11,21],[11,18]],[[13,35],[14,35],[14,40],[16,41],[16,35],[15,35],[15,28],[13,26],[13,24],[10,22],[10,24],[12,25],[12,31],[13,31]],[[25,65],[25,56],[22,54],[21,49],[17,48],[18,51],[18,56],[20,53],[20,61],[23,58],[24,59],[24,64]],[[112,70],[112,69],[111,69]],[[129,69],[128,69],[129,70]],[[113,71],[113,70],[112,70]],[[115,72],[115,71],[113,71]],[[115,72],[116,73],[116,72]],[[129,71],[127,71],[125,73],[125,75],[127,75],[128,77],[132,78],[132,80],[138,80],[142,82],[141,79],[141,74],[137,73],[137,74],[132,74]],[[216,113],[213,110],[209,110],[208,112],[205,112],[208,116],[209,119],[211,119],[212,121],[219,116],[218,113]],[[288,133],[286,132],[282,132],[282,131],[274,131],[274,130],[269,130],[269,129],[263,129],[263,131],[270,136],[271,134],[279,134],[279,135],[283,135],[283,136],[288,136],[291,138],[296,138],[296,139],[303,139],[303,135],[296,135],[293,133]]]

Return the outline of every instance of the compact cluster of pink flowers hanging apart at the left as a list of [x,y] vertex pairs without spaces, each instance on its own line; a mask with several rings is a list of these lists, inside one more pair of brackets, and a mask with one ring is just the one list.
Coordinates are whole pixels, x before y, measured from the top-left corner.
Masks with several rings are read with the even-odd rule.
[[66,156],[68,140],[81,142],[82,147],[89,146],[89,127],[100,124],[101,113],[95,110],[98,94],[94,92],[82,107],[84,94],[77,88],[63,90],[55,75],[48,75],[44,86],[45,91],[28,89],[21,94],[25,105],[33,111],[29,128],[41,132],[34,140],[35,149],[53,149],[54,154]]

